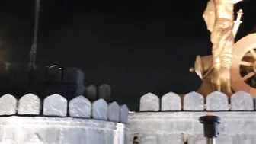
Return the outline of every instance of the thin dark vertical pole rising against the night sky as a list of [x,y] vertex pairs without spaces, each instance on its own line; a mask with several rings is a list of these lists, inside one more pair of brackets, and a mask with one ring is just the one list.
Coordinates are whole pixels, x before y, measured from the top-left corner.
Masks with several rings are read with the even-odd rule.
[[37,54],[37,33],[38,22],[40,15],[40,0],[36,0],[35,4],[35,19],[34,19],[34,39],[30,50],[30,71],[32,72],[36,67],[36,54]]

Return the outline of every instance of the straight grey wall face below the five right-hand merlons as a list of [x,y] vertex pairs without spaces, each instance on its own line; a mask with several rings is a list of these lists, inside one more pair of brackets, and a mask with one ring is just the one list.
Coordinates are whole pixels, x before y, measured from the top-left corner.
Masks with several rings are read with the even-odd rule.
[[[207,112],[139,112],[129,115],[130,139],[136,134],[140,144],[206,143],[199,117]],[[253,111],[213,112],[221,117],[216,143],[255,143],[256,113]]]

